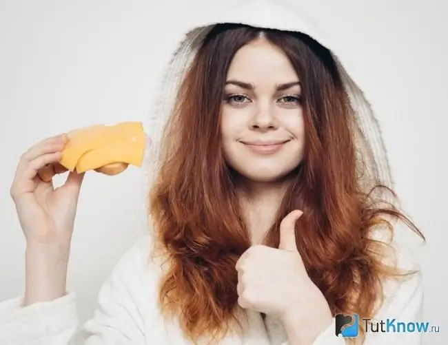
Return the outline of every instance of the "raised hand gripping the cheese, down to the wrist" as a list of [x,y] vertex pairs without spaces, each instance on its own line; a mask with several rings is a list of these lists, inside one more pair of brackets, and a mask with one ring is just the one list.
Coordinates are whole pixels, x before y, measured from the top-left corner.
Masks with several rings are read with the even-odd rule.
[[30,247],[45,245],[63,250],[70,244],[84,174],[70,171],[58,188],[39,178],[43,169],[50,176],[66,171],[59,161],[67,142],[65,134],[46,138],[30,147],[17,165],[10,194]]

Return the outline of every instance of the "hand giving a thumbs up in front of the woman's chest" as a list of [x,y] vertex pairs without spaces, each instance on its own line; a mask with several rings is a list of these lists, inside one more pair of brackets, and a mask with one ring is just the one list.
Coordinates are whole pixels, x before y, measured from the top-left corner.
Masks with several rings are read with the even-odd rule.
[[309,337],[314,328],[318,335],[332,322],[327,301],[309,278],[297,249],[295,225],[302,214],[294,210],[283,218],[278,249],[252,246],[236,262],[238,304],[278,316],[294,338],[298,328]]

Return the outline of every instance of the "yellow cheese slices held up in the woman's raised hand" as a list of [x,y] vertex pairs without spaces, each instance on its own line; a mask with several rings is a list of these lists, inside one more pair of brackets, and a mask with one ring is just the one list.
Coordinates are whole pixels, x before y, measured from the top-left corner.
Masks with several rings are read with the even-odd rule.
[[110,163],[141,167],[145,151],[141,122],[83,127],[69,132],[68,138],[60,163],[70,171],[82,173]]

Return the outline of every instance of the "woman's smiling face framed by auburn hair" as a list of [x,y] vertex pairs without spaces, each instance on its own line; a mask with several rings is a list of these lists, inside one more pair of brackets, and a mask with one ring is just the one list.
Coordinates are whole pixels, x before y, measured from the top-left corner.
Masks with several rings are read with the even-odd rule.
[[236,52],[221,116],[228,165],[256,182],[276,181],[303,158],[301,86],[287,56],[266,39]]

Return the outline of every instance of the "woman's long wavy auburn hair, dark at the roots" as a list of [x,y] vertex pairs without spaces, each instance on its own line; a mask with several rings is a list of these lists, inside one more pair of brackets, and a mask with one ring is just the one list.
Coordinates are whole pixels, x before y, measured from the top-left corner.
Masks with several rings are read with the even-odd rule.
[[161,311],[179,316],[193,341],[205,334],[218,339],[233,324],[241,326],[235,264],[251,242],[233,171],[223,158],[220,112],[234,54],[261,32],[285,52],[301,79],[305,121],[305,156],[265,244],[278,247],[281,220],[293,209],[303,210],[297,247],[332,313],[372,317],[383,299],[382,280],[402,274],[385,264],[387,246],[372,231],[383,225],[393,231],[387,219],[396,218],[422,236],[409,218],[378,198],[382,194],[363,191],[354,112],[329,50],[297,32],[215,25],[181,84],[150,192],[156,244],[167,264]]

